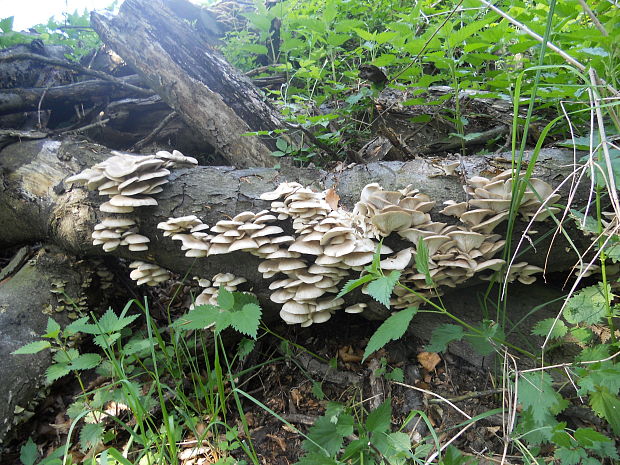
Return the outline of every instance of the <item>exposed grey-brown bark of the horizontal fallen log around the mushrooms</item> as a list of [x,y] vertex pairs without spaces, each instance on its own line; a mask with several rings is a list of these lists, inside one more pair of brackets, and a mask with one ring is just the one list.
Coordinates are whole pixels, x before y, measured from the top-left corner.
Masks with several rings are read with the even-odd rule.
[[[0,236],[0,244],[48,241],[78,255],[104,255],[99,247],[91,245],[90,239],[93,226],[102,219],[98,207],[103,198],[83,188],[66,190],[63,180],[109,156],[105,148],[77,141],[36,140],[13,144],[5,148],[1,155],[0,169],[4,174],[0,176],[4,187],[0,191],[0,223],[6,226]],[[570,173],[572,162],[570,151],[543,151],[535,175],[557,184]],[[510,166],[509,161],[502,157],[464,157],[463,163],[467,177],[494,173]],[[149,252],[129,255],[121,251],[119,255],[127,258],[148,257],[163,267],[182,273],[191,267],[195,275],[208,276],[235,270],[238,274],[247,274],[250,281],[260,283],[261,278],[256,271],[258,260],[254,257],[236,252],[232,256],[217,255],[198,261],[184,258],[177,243],[162,238],[161,231],[156,229],[157,223],[169,216],[196,214],[205,223],[213,225],[226,216],[232,217],[242,211],[259,211],[269,207],[268,202],[260,200],[260,194],[273,190],[283,181],[297,181],[320,189],[334,187],[341,197],[341,205],[348,208],[353,206],[362,188],[370,182],[378,182],[386,189],[411,184],[437,202],[431,212],[434,219],[454,222],[454,218],[437,212],[445,200],[465,200],[463,181],[457,176],[437,176],[437,173],[438,169],[426,159],[357,165],[339,173],[308,168],[235,170],[231,167],[196,167],[176,171],[170,176],[171,182],[164,191],[157,194],[159,205],[136,212],[141,233],[152,241]],[[573,207],[584,199],[585,196],[577,196]],[[552,222],[538,223],[536,229],[539,234],[534,236],[534,241],[554,228]],[[578,242],[578,237],[574,240]],[[530,250],[521,258],[544,265],[547,246],[548,239],[543,240],[536,244],[538,253]],[[576,256],[566,253],[565,246],[559,237],[550,252],[552,260],[549,270],[564,270],[574,265]],[[239,260],[241,257],[243,259]]]

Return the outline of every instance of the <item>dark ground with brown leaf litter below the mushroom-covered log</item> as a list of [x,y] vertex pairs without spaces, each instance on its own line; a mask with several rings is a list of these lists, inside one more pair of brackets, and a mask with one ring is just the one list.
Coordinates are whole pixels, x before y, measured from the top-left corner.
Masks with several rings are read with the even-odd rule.
[[[361,419],[384,399],[390,398],[393,431],[407,432],[414,443],[427,436],[429,430],[419,415],[405,424],[412,410],[425,412],[441,443],[461,431],[462,426],[457,425],[466,420],[452,406],[423,391],[452,399],[455,406],[472,417],[501,406],[501,394],[494,389],[496,378],[491,371],[471,366],[451,354],[425,353],[424,344],[419,341],[397,341],[361,363],[364,347],[377,327],[378,323],[361,317],[336,315],[329,324],[310,328],[286,325],[272,328],[283,339],[269,334],[259,339],[250,356],[253,357],[252,364],[267,363],[240,379],[238,386],[289,423],[285,424],[264,408],[243,399],[251,440],[261,463],[289,465],[301,458],[304,438],[295,429],[307,432],[324,414],[329,401],[351,407],[356,419]],[[283,346],[282,340],[288,340],[289,344]],[[332,363],[320,361],[309,353],[332,360]],[[335,370],[330,369],[334,360],[337,360]],[[394,368],[403,370],[404,383],[386,379],[386,373],[391,373]],[[32,437],[44,456],[66,442],[71,424],[66,414],[67,407],[80,393],[77,382],[68,379],[57,382],[35,415],[16,429],[0,463],[19,464],[20,447],[28,437]],[[105,380],[93,377],[90,387],[102,382]],[[242,431],[233,401],[229,411],[225,421],[228,425],[236,424]],[[501,454],[501,425],[501,416],[492,415],[478,421],[452,444],[472,458],[478,454],[487,457]],[[239,439],[247,438],[239,433]],[[179,463],[211,464],[222,457],[222,451],[209,447],[197,453],[195,443],[186,442],[189,444],[184,446],[187,452]],[[122,448],[122,444],[116,446]],[[78,462],[84,458],[77,446],[72,455]],[[243,458],[239,451],[231,455]]]

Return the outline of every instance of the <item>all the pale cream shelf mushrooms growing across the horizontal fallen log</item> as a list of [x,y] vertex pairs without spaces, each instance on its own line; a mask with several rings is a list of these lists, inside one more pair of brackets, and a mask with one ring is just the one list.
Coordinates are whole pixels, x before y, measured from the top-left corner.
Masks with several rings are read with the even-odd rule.
[[[117,154],[69,181],[110,196],[103,205],[118,209],[113,213],[131,213],[137,206],[156,204],[150,195],[161,190],[169,169],[179,164],[190,166],[192,160],[176,151],[150,156]],[[453,163],[446,169],[454,174],[458,167]],[[435,201],[410,186],[387,191],[377,183],[368,184],[353,211],[347,211],[330,205],[328,191],[315,192],[299,183],[285,182],[260,196],[270,202],[268,210],[241,212],[211,227],[195,215],[169,218],[157,227],[164,236],[179,241],[187,257],[208,259],[241,251],[261,258],[258,271],[264,279],[272,280],[270,299],[281,305],[281,318],[288,324],[309,326],[329,320],[343,308],[347,313],[364,311],[365,303],[345,308],[344,299],[336,295],[343,280],[363,271],[372,262],[379,240],[390,235],[405,242],[400,250],[385,244],[380,249],[382,269],[401,272],[403,287],[394,289],[390,301],[395,309],[419,305],[474,276],[491,279],[505,268],[505,261],[496,257],[505,241],[494,231],[510,215],[512,173],[505,171],[491,179],[474,176],[464,188],[466,201],[448,200],[439,212],[458,218],[458,224],[435,221],[431,215]],[[558,200],[549,184],[532,178],[517,211],[525,220],[543,221],[559,210],[552,206]],[[103,205],[102,210],[107,211]],[[292,234],[285,232],[287,224]],[[148,243],[148,238],[137,233],[135,219],[127,216],[105,218],[95,227],[93,239],[105,250],[121,245],[145,250]],[[432,283],[415,266],[421,240],[428,251]],[[154,285],[167,276],[154,264],[134,262],[132,268],[131,277],[139,284]],[[499,273],[499,278],[530,284],[541,271],[523,262]],[[199,279],[204,289],[194,305],[217,305],[220,286],[234,291],[242,282],[244,278],[229,273],[220,273],[212,281]]]

